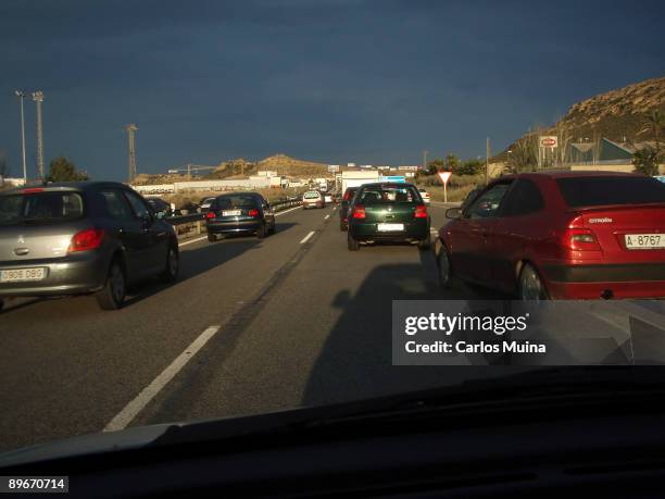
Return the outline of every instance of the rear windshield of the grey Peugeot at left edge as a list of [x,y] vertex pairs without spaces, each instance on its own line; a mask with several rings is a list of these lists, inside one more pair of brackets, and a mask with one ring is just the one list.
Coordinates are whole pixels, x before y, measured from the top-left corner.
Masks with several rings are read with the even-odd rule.
[[0,196],[0,225],[40,225],[67,222],[84,215],[78,192],[33,192]]

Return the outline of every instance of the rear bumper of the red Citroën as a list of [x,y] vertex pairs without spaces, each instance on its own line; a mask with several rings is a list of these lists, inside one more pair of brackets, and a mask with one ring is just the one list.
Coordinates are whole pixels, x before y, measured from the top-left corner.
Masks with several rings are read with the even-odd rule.
[[664,298],[665,264],[545,265],[552,298]]

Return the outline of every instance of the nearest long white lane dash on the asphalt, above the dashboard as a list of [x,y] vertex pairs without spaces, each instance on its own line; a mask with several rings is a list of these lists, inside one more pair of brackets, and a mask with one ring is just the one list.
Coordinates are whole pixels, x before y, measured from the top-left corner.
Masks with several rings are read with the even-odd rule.
[[141,390],[125,408],[116,414],[113,420],[104,427],[103,432],[116,432],[124,429],[137,416],[141,410],[148,406],[166,384],[185,367],[196,353],[219,330],[219,326],[210,326],[195,339],[164,371],[155,377],[150,385]]

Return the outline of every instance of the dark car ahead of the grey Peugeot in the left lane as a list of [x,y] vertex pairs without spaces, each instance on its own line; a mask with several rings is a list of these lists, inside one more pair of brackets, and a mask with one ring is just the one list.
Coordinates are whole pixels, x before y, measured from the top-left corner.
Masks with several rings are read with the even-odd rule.
[[275,211],[258,192],[233,192],[215,198],[205,214],[208,240],[223,236],[254,234],[263,238],[275,234]]

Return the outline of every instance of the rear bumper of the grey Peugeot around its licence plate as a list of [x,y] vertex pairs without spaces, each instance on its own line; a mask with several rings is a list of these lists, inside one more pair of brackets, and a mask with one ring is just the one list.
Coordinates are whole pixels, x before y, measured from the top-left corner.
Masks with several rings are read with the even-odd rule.
[[42,280],[0,283],[0,297],[32,297],[80,295],[101,289],[106,278],[110,257],[98,251],[60,259],[0,262],[0,271],[28,267],[46,267]]

